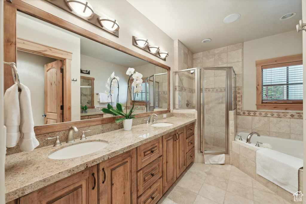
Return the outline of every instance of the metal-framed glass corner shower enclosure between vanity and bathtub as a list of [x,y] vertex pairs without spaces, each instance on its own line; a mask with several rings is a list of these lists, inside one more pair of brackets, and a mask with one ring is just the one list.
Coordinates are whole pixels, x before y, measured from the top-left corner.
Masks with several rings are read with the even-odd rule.
[[199,154],[227,154],[229,111],[236,109],[233,67],[192,68],[173,72],[174,109],[197,111]]

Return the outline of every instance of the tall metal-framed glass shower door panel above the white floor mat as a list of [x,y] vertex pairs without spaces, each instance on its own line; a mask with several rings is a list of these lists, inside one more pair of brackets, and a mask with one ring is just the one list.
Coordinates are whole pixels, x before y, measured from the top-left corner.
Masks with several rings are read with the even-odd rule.
[[227,69],[204,68],[204,154],[227,151]]

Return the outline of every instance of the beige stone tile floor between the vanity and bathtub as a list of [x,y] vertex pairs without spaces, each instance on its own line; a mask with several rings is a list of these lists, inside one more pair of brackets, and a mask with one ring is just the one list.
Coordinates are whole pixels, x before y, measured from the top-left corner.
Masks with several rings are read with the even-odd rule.
[[194,163],[158,204],[288,204],[232,165]]

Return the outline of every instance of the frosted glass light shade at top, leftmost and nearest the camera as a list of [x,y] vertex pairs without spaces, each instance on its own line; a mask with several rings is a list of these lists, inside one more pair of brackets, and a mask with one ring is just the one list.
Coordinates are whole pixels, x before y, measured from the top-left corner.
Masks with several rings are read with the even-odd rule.
[[67,5],[71,10],[80,16],[87,17],[88,19],[94,17],[94,11],[90,3],[85,0],[66,0]]

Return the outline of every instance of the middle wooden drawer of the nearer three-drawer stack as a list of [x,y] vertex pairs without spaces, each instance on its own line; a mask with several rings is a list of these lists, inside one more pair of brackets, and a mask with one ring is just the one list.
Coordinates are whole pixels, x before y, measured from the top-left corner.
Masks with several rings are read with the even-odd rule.
[[137,173],[137,191],[140,196],[162,176],[162,157],[151,162]]

